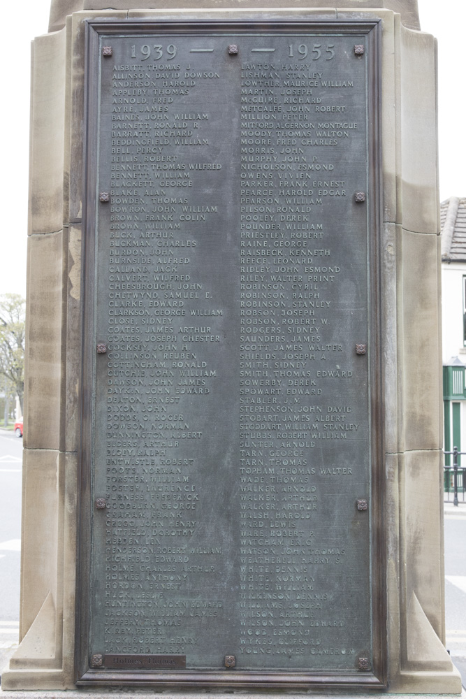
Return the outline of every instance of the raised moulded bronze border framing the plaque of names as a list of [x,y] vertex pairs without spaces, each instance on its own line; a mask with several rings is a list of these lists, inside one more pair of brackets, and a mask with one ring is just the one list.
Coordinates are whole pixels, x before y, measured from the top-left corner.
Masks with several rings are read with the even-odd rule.
[[[188,13],[187,13],[188,14]],[[192,17],[192,18],[191,18]],[[85,35],[85,114],[84,117],[84,192],[82,259],[83,278],[83,345],[80,389],[81,441],[78,465],[78,566],[75,629],[75,682],[77,686],[140,686],[153,689],[187,691],[194,689],[282,689],[282,690],[359,690],[386,689],[386,547],[383,525],[383,382],[381,365],[381,20],[319,20],[305,13],[282,16],[279,11],[248,13],[245,20],[212,20],[200,15],[165,15],[156,20],[86,20]],[[89,572],[92,517],[92,385],[95,363],[94,347],[94,257],[96,243],[96,157],[99,130],[97,125],[99,73],[99,35],[138,34],[257,33],[286,34],[326,31],[337,34],[365,34],[367,41],[367,201],[368,252],[370,265],[369,335],[370,415],[372,437],[372,668],[369,671],[325,672],[257,672],[256,670],[105,670],[90,667],[89,648]],[[105,653],[105,649],[102,649]]]

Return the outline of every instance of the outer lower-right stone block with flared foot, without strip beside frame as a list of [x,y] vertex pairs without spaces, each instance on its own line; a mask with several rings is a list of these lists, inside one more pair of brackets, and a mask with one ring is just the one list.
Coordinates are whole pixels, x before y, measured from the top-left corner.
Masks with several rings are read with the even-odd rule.
[[[401,615],[405,651],[401,677],[394,686],[412,691],[460,693],[460,676],[444,647],[444,542],[442,450],[406,452],[400,473],[405,517],[400,521],[405,572],[400,576]],[[409,565],[408,565],[409,562]],[[406,691],[406,689],[405,689]]]

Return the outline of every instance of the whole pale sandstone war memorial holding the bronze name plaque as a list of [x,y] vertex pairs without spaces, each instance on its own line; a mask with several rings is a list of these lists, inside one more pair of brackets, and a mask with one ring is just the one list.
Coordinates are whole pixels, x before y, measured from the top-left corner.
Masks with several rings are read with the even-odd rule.
[[460,693],[415,0],[53,0],[3,689]]

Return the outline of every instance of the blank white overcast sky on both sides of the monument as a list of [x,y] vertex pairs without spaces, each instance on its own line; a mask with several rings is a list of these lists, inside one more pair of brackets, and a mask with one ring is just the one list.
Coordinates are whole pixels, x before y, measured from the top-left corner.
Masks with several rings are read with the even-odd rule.
[[[109,2],[110,4],[110,2]],[[266,6],[266,0],[258,5]],[[323,5],[330,5],[323,2]],[[440,201],[466,196],[466,0],[418,0],[421,28],[439,42]],[[0,294],[26,295],[29,157],[29,40],[48,29],[50,0],[23,0],[2,8],[0,110],[3,176],[0,206]],[[20,21],[18,21],[20,18]]]

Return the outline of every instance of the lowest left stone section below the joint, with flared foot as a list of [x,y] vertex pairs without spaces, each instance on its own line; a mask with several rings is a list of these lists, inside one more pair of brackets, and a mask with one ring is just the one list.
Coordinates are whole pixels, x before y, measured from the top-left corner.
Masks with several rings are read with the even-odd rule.
[[77,456],[24,449],[20,647],[2,690],[73,685]]

